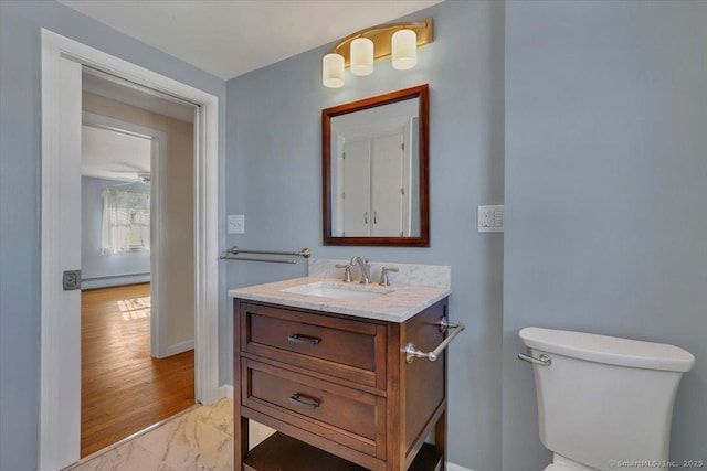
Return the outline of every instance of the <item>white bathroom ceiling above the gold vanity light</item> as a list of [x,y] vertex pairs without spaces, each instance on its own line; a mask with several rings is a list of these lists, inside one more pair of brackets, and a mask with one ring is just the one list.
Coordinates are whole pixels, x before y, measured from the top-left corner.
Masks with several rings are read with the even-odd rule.
[[222,79],[443,0],[57,0]]

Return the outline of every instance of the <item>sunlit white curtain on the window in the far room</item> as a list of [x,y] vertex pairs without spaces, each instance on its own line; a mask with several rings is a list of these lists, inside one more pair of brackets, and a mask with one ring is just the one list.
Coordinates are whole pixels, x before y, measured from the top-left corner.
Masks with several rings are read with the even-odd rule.
[[103,255],[150,249],[150,194],[103,190]]

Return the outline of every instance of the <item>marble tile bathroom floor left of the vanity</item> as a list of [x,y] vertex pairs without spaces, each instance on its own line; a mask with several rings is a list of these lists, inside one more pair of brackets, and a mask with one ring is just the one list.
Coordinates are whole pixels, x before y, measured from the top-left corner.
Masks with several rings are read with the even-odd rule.
[[[273,431],[251,422],[250,447]],[[233,402],[221,399],[213,405],[194,406],[146,432],[84,458],[67,470],[233,470]]]

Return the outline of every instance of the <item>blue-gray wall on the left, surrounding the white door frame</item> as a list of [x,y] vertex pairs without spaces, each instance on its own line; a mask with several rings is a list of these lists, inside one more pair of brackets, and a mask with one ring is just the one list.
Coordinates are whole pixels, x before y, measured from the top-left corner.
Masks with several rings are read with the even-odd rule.
[[42,26],[218,96],[224,136],[223,81],[56,2],[0,2],[0,469],[13,471],[38,452]]

